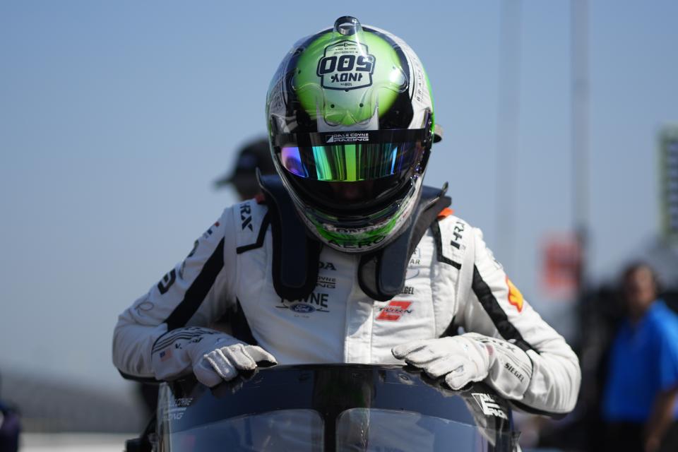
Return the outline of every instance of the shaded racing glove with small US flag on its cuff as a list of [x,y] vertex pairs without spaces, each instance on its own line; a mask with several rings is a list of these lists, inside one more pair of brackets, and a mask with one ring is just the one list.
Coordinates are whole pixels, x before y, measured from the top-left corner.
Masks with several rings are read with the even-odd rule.
[[234,379],[242,370],[256,369],[257,362],[278,364],[275,357],[256,345],[208,328],[179,328],[155,341],[151,363],[155,378],[169,380],[193,371],[210,388]]

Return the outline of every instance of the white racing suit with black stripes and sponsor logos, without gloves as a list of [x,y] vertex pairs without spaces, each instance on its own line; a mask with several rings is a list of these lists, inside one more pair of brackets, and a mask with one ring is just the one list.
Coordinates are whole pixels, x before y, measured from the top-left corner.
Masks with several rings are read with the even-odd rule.
[[314,291],[287,300],[273,287],[267,211],[255,200],[227,208],[189,256],[119,316],[113,361],[122,374],[154,378],[153,355],[162,357],[164,378],[188,374],[190,363],[172,350],[212,333],[207,327],[237,307],[279,364],[403,364],[392,347],[459,327],[508,340],[532,364],[517,405],[543,414],[573,409],[581,382],[576,355],[523,299],[477,228],[439,217],[412,254],[403,293],[386,302],[359,287],[358,254],[324,246]]

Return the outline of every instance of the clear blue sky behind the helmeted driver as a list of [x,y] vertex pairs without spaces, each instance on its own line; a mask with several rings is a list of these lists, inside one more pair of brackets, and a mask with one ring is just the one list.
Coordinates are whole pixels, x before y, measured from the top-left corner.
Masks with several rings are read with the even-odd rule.
[[[445,138],[427,183],[482,227],[537,307],[539,245],[571,212],[570,7],[523,1],[513,256],[496,243],[499,1],[4,1],[0,4],[0,370],[121,382],[117,314],[234,201],[210,183],[264,129],[268,81],[350,13],[407,41]],[[590,6],[590,250],[596,279],[658,231],[655,135],[677,120],[678,4]]]

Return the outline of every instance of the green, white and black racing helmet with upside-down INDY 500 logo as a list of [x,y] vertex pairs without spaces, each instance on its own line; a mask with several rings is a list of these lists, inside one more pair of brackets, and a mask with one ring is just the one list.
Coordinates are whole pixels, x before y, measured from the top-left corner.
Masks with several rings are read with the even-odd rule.
[[273,76],[266,119],[275,167],[322,242],[372,251],[408,223],[434,113],[428,77],[403,40],[350,16],[305,37]]

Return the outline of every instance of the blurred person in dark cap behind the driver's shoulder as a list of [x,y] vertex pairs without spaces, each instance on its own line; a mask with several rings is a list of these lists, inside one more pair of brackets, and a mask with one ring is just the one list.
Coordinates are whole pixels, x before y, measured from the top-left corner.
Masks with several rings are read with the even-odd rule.
[[254,198],[261,193],[256,181],[256,169],[261,174],[275,174],[275,166],[270,158],[268,138],[255,138],[247,141],[238,153],[238,160],[230,174],[217,179],[215,186],[222,188],[232,185],[238,192],[241,200]]

